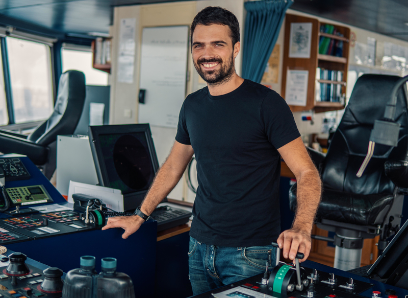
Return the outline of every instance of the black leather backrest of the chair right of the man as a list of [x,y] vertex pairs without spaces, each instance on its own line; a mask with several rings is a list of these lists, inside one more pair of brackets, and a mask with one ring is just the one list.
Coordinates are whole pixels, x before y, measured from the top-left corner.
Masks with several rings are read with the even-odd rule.
[[405,85],[399,90],[394,118],[401,125],[397,147],[376,144],[363,176],[358,178],[355,174],[367,154],[374,121],[384,117],[398,79],[400,77],[367,74],[356,81],[321,168],[324,188],[365,195],[393,192],[394,184],[385,174],[384,163],[406,157],[408,114]]

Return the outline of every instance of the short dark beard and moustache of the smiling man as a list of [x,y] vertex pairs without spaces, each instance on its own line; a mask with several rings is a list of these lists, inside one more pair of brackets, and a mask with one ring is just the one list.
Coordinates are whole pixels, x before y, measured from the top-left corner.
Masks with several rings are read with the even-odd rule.
[[[221,66],[218,70],[213,71],[204,71],[201,69],[201,63],[220,63]],[[227,63],[223,64],[221,58],[214,58],[214,59],[198,59],[197,63],[193,61],[194,67],[197,70],[197,73],[200,77],[206,81],[207,84],[212,86],[218,86],[222,83],[230,81],[232,76],[235,74],[235,66],[234,66],[234,54],[231,55],[230,59]]]

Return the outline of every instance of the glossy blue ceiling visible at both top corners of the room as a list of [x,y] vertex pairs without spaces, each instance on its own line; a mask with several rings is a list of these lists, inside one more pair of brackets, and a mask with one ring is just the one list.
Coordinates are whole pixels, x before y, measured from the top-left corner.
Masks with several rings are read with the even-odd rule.
[[[108,33],[114,6],[163,0],[0,0],[1,15],[63,33]],[[408,41],[408,0],[294,0],[291,9]]]

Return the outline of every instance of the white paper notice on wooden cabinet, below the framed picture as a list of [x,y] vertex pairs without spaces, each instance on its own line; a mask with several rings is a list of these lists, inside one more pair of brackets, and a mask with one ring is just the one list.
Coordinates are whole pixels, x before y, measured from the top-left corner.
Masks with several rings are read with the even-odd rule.
[[288,70],[285,100],[289,105],[306,106],[308,99],[309,71]]

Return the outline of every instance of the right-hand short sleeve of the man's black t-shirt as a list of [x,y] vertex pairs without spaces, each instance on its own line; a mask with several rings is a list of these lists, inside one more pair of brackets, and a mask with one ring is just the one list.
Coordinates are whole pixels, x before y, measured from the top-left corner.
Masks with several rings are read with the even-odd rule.
[[264,121],[268,140],[276,149],[300,136],[288,104],[274,91],[268,93],[262,102],[261,119]]

